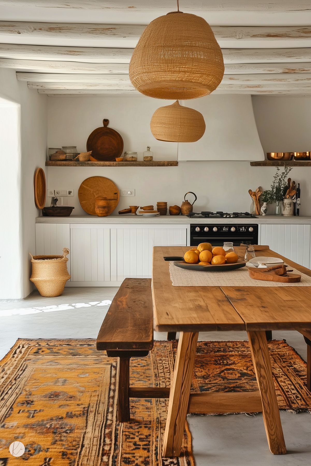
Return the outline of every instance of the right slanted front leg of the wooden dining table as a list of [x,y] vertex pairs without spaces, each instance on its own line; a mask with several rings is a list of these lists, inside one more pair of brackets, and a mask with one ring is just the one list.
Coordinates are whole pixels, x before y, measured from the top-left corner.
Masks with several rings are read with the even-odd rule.
[[266,335],[264,331],[260,331],[248,332],[248,336],[257,384],[263,403],[263,422],[270,452],[274,455],[282,455],[286,453],[286,446],[276,401]]

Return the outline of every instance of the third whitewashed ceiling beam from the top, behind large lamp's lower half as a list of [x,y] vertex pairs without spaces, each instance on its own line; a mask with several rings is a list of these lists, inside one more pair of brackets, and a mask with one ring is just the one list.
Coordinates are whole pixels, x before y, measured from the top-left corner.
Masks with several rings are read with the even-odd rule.
[[[88,63],[129,63],[133,48],[0,44],[0,57]],[[311,48],[223,48],[225,63],[311,62]]]

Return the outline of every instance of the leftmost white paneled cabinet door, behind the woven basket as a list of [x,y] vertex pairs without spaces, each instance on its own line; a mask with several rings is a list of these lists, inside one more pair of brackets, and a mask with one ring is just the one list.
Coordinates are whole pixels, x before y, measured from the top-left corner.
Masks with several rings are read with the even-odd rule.
[[[70,226],[68,224],[35,224],[36,255],[61,255],[63,247],[68,247],[70,250]],[[32,252],[32,254],[34,253]],[[67,269],[70,274],[70,254],[68,255]]]

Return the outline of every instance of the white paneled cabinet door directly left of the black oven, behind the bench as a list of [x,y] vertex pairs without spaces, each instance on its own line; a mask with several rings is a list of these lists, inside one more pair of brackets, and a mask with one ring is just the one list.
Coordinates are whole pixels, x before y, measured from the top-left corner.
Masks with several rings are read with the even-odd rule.
[[117,225],[112,231],[117,238],[117,281],[151,277],[154,246],[187,246],[187,225]]

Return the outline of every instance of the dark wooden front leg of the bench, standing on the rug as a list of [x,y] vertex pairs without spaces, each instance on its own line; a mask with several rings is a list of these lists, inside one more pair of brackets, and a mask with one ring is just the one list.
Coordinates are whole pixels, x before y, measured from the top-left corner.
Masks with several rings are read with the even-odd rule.
[[117,386],[117,420],[130,420],[130,358],[119,358],[119,383]]

